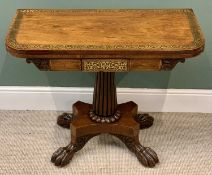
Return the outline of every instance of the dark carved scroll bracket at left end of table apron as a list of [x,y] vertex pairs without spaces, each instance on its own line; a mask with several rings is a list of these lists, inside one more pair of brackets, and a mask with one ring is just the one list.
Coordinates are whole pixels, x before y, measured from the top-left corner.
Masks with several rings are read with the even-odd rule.
[[26,59],[27,63],[33,63],[40,70],[50,70],[50,60],[49,59]]

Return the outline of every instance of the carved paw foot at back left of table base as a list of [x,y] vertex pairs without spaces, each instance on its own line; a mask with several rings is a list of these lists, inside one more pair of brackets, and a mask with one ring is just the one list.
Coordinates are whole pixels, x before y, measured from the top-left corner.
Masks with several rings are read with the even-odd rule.
[[73,120],[73,114],[71,113],[63,113],[58,116],[57,118],[57,124],[59,126],[62,126],[63,128],[70,128],[70,123]]

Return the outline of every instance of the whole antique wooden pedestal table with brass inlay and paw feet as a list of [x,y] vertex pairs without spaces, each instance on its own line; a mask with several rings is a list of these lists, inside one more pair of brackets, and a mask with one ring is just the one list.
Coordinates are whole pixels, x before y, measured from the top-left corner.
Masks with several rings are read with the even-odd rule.
[[138,137],[153,118],[138,114],[132,101],[117,104],[115,72],[171,70],[200,54],[204,38],[191,9],[20,9],[6,48],[40,70],[96,72],[93,104],[78,101],[72,114],[58,117],[60,126],[71,125],[71,142],[52,155],[56,166],[68,164],[92,137],[110,133],[153,167],[157,154]]

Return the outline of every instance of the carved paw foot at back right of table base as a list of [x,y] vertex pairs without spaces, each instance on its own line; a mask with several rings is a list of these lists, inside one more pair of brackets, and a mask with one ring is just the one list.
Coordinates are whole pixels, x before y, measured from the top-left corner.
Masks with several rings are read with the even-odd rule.
[[140,124],[140,129],[149,128],[154,122],[154,118],[149,114],[138,114],[135,120]]

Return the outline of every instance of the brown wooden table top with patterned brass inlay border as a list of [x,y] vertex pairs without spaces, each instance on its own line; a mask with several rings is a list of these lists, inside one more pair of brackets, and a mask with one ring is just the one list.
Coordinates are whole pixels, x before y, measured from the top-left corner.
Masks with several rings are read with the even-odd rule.
[[191,9],[20,9],[6,39],[11,54],[31,59],[179,59],[204,43]]

